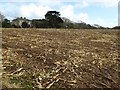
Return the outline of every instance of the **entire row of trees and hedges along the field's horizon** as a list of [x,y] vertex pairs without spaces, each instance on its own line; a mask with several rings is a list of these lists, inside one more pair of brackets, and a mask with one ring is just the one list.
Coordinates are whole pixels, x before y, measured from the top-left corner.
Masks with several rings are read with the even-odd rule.
[[10,21],[0,14],[0,24],[2,28],[75,28],[75,29],[104,29],[104,27],[94,27],[90,24],[73,23],[67,18],[61,18],[60,12],[48,11],[45,14],[45,19],[32,19],[26,17],[17,17]]

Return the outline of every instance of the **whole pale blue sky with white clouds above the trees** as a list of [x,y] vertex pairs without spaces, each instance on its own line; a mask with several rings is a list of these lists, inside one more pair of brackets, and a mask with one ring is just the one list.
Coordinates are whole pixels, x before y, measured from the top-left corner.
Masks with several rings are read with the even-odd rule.
[[118,25],[119,0],[0,0],[0,11],[8,19],[16,17],[44,18],[49,10],[61,17],[105,27]]

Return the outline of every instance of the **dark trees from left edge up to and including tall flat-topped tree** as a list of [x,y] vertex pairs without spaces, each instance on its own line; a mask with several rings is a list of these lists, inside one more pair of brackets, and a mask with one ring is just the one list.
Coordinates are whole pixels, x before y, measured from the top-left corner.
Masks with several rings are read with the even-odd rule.
[[1,24],[3,28],[60,28],[63,20],[57,11],[48,11],[45,19],[26,19],[25,17],[17,17],[12,21],[1,15]]

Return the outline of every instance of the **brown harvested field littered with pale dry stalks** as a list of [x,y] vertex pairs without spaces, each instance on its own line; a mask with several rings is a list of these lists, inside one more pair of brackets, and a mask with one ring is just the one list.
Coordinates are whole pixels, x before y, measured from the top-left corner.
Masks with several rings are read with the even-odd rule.
[[3,29],[3,88],[120,88],[118,34]]

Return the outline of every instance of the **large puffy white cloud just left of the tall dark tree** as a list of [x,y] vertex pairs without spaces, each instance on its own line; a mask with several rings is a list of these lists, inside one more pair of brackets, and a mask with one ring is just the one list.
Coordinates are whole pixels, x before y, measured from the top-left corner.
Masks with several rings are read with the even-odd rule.
[[20,15],[27,18],[44,18],[47,11],[52,10],[48,6],[35,4],[23,5],[20,8]]

